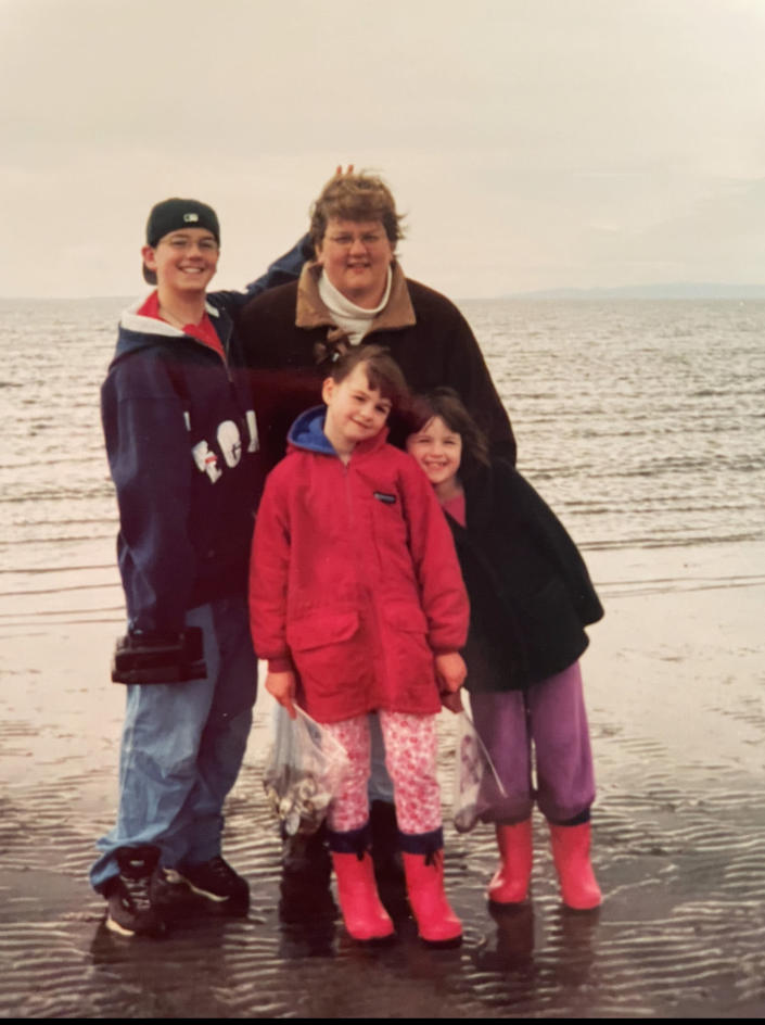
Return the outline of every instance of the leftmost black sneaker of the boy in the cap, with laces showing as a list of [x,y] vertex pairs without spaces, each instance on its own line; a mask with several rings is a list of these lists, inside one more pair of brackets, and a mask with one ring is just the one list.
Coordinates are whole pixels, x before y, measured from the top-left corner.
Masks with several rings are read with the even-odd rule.
[[110,880],[106,928],[120,936],[162,936],[166,923],[151,899],[151,881],[160,860],[157,847],[122,847],[116,852],[119,875]]

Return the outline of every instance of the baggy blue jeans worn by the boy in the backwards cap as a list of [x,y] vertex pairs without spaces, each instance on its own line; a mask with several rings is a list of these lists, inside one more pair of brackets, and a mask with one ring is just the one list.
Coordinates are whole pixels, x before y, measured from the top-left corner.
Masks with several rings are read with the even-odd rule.
[[204,637],[207,676],[127,687],[114,828],[97,844],[94,889],[118,873],[122,847],[153,844],[160,863],[199,864],[220,853],[222,807],[239,774],[257,693],[244,597],[187,612]]

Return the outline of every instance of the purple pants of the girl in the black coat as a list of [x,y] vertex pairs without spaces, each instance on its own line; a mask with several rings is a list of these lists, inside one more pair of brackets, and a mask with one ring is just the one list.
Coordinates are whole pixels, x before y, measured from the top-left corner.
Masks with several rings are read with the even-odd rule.
[[523,822],[535,797],[541,813],[556,823],[589,808],[595,773],[578,661],[525,692],[472,692],[470,705],[475,729],[507,790],[507,798],[489,812],[492,821]]

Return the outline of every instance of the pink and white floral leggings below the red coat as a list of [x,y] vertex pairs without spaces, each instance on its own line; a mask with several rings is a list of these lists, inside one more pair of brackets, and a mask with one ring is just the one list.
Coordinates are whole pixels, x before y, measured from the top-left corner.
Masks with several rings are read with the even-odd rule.
[[[403,833],[430,833],[441,826],[441,790],[436,779],[435,716],[380,710],[385,765],[393,781],[396,819]],[[335,833],[358,830],[369,819],[369,717],[322,723],[348,752],[350,764],[332,801],[328,825]]]

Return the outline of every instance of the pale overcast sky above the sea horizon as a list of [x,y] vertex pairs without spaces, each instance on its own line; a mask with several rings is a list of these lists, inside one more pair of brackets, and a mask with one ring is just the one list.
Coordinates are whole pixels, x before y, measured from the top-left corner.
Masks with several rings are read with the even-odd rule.
[[133,295],[150,206],[215,284],[383,174],[455,299],[765,282],[765,0],[0,0],[0,294]]

